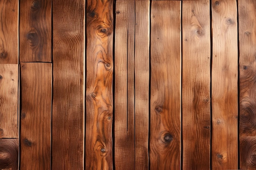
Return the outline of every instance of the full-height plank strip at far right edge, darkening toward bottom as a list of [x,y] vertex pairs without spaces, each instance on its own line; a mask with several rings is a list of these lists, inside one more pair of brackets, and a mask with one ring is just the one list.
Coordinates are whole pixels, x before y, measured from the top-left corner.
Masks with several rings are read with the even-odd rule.
[[256,1],[238,0],[240,169],[256,169]]

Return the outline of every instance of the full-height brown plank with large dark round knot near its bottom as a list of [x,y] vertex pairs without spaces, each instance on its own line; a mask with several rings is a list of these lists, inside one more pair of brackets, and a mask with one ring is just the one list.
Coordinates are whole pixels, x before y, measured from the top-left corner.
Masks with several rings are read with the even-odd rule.
[[180,169],[180,12],[180,1],[152,1],[150,170]]

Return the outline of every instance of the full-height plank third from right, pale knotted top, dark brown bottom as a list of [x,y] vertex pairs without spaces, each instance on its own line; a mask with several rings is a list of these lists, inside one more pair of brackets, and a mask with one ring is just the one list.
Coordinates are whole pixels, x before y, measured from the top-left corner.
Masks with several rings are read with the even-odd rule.
[[210,169],[209,0],[182,2],[183,169]]

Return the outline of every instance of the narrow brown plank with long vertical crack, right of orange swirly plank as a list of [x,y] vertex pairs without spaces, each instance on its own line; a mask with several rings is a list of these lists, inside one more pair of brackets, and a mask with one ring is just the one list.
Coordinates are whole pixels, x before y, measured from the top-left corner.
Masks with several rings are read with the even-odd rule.
[[115,168],[134,170],[135,1],[117,0],[115,13]]

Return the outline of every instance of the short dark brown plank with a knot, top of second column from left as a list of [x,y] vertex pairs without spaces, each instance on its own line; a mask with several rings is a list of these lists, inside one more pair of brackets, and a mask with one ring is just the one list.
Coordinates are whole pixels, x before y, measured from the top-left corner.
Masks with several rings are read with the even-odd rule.
[[52,62],[52,0],[20,0],[20,62]]

